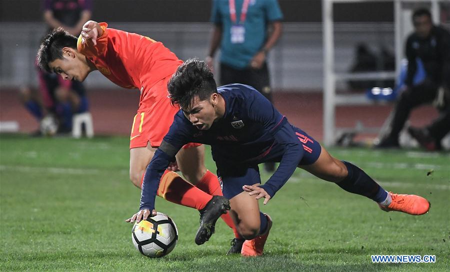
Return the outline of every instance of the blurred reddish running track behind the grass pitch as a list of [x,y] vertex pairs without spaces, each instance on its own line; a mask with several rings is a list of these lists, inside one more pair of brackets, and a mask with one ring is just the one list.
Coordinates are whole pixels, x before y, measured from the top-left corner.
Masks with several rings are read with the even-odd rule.
[[[88,92],[94,131],[101,135],[128,135],[137,110],[139,92],[135,90],[90,90]],[[317,140],[322,132],[322,96],[313,92],[275,92],[275,107],[290,123]],[[360,120],[366,127],[380,127],[392,105],[342,106],[336,110],[337,127],[353,127]],[[411,114],[411,123],[422,126],[437,117],[431,106],[422,106]],[[15,120],[21,132],[37,129],[36,120],[20,104],[16,90],[0,90],[0,121]],[[374,134],[359,136],[373,138]]]

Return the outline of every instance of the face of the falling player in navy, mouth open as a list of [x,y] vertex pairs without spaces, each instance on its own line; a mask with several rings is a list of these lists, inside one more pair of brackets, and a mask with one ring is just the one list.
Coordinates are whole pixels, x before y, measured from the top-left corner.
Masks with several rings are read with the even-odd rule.
[[[212,97],[214,96],[214,97]],[[195,96],[189,109],[182,109],[184,116],[199,130],[211,128],[216,118],[214,105],[216,104],[217,94],[211,95],[208,100],[200,100]]]

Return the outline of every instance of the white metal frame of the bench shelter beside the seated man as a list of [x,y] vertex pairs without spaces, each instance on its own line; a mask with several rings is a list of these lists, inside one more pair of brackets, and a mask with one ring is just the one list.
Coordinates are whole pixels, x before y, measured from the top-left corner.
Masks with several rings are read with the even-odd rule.
[[[339,46],[335,43],[338,34],[336,23],[333,23],[333,4],[358,2],[394,2],[394,28],[391,32],[391,40],[394,41],[395,48],[395,71],[370,72],[358,74],[342,74],[338,68]],[[411,7],[406,8],[404,3],[428,3],[435,23],[439,23],[439,3],[448,3],[448,0],[322,0],[322,26],[323,26],[323,143],[333,145],[338,129],[335,127],[335,108],[337,105],[368,104],[367,98],[363,95],[337,95],[336,89],[342,80],[361,79],[394,79],[399,74],[401,58],[404,56],[404,37],[412,29],[410,25]],[[334,28],[334,29],[333,29]],[[375,87],[375,86],[374,86]]]

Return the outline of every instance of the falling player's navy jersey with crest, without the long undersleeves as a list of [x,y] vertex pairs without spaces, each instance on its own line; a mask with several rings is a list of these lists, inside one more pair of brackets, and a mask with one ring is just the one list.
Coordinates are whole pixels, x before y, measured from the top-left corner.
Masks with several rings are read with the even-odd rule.
[[163,141],[177,150],[190,142],[210,145],[215,162],[243,162],[264,153],[286,118],[250,86],[229,84],[217,92],[225,100],[225,114],[210,129],[198,130],[180,110]]

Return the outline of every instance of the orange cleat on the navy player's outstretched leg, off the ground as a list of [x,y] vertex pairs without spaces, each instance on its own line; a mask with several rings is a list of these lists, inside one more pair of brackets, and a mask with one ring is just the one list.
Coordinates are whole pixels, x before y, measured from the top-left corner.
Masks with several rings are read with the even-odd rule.
[[429,210],[429,202],[422,197],[416,195],[399,195],[393,194],[392,192],[389,192],[388,194],[392,198],[389,206],[385,207],[378,204],[379,208],[383,211],[397,211],[410,215],[423,215]]

